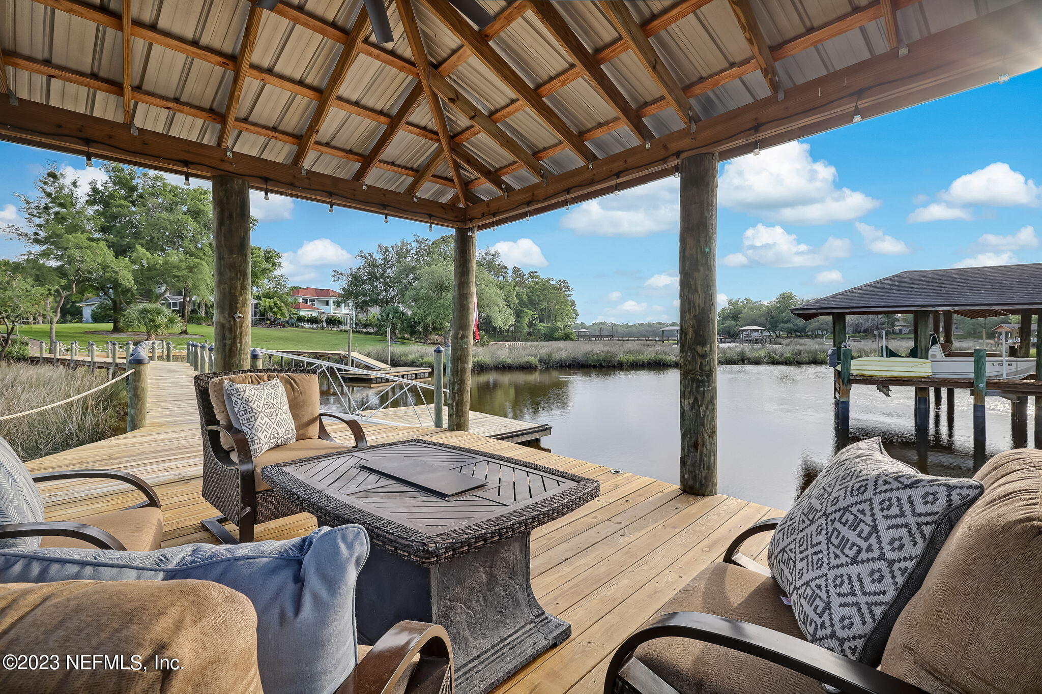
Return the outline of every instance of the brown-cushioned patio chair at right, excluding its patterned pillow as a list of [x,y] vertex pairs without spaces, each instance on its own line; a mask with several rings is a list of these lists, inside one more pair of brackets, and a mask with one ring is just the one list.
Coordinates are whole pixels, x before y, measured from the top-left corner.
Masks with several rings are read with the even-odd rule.
[[993,458],[983,495],[897,616],[879,668],[810,643],[740,534],[615,652],[605,694],[1017,694],[1042,682],[1042,451]]

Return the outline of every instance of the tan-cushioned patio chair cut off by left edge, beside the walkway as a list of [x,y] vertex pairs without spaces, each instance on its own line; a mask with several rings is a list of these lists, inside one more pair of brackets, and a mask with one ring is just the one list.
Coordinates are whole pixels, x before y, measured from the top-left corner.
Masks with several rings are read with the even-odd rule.
[[[104,479],[125,482],[145,500],[119,511],[69,520],[46,520],[38,482]],[[13,521],[13,522],[4,522]],[[33,538],[40,538],[39,545]],[[0,548],[102,547],[145,551],[163,542],[159,497],[147,482],[122,470],[57,470],[30,474],[22,460],[0,438]]]

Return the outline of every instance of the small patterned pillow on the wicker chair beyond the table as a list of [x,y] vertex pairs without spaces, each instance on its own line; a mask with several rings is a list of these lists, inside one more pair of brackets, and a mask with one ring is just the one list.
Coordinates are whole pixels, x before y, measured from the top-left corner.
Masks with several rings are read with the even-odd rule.
[[290,401],[277,379],[256,385],[225,381],[224,403],[231,425],[246,434],[253,458],[297,440]]

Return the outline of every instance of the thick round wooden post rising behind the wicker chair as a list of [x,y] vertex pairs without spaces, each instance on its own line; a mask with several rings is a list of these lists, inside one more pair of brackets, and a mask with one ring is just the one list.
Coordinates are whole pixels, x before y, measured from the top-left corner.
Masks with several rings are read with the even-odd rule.
[[212,370],[249,367],[250,188],[246,179],[214,176],[214,342]]

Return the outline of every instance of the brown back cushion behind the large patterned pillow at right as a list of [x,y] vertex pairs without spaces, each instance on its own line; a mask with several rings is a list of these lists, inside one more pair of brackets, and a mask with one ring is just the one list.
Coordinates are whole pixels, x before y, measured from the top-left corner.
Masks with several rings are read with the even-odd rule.
[[995,456],[984,494],[894,624],[884,672],[944,694],[1042,692],[1042,451]]

